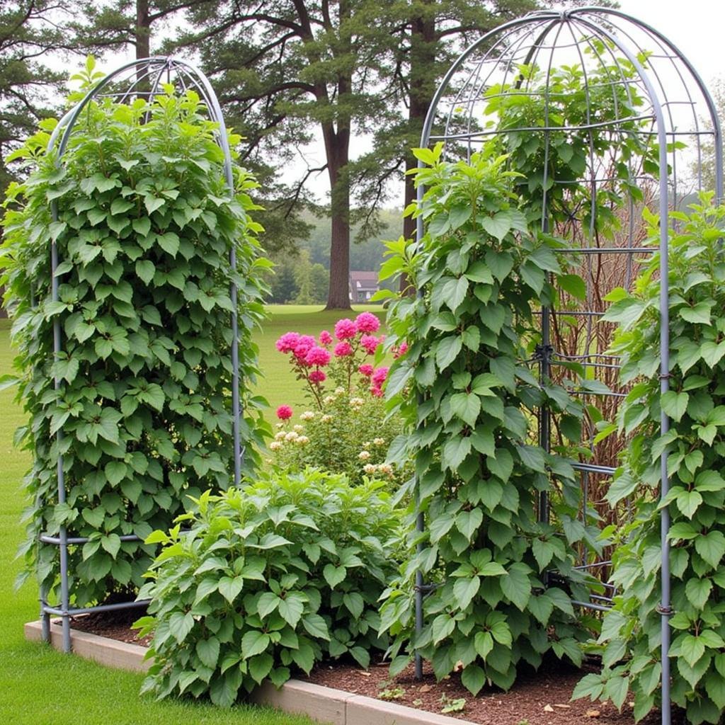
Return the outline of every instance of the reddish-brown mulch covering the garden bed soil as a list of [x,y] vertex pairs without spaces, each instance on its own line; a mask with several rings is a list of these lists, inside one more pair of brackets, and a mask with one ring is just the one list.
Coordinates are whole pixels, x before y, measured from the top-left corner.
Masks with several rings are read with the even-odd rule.
[[[136,631],[130,629],[144,613],[141,610],[99,612],[73,618],[71,626],[102,637],[147,646],[150,637],[138,639]],[[418,682],[413,675],[413,666],[410,666],[391,680],[386,663],[374,664],[368,670],[340,662],[320,665],[305,679],[368,697],[379,697],[387,691],[388,695],[394,695],[385,698],[390,702],[433,713],[442,711],[442,700],[450,703],[463,698],[463,711],[446,714],[479,725],[634,725],[631,703],[625,703],[622,712],[618,713],[609,702],[570,701],[576,683],[587,671],[596,669],[585,666],[581,670],[558,660],[546,660],[538,671],[522,671],[509,692],[484,687],[477,697],[463,687],[457,674],[436,682],[430,668],[425,668],[423,681]],[[682,713],[678,712],[673,713],[672,722],[673,725],[687,725]],[[651,712],[640,721],[640,725],[659,723],[659,711]]]

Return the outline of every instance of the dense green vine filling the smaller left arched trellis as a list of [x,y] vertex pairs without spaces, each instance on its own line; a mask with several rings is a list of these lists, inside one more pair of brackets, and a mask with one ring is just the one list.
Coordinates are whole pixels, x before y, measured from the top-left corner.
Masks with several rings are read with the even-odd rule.
[[[92,60],[86,71],[92,76]],[[229,285],[235,279],[240,289],[247,386],[257,373],[251,334],[262,317],[267,263],[248,215],[254,182],[237,169],[229,194],[215,127],[203,114],[193,92],[170,87],[151,105],[104,99],[83,110],[62,162],[55,150],[46,154],[51,123],[17,154],[33,171],[8,191],[1,283],[30,416],[17,434],[33,455],[22,550],[52,589],[58,549],[37,544],[38,534],[65,524],[71,536],[88,537],[69,552],[78,605],[142,583],[153,548],[121,537],[144,539],[170,526],[186,494],[229,483]],[[57,302],[51,240],[60,262]],[[54,321],[62,334],[57,360]],[[250,465],[263,429],[258,418],[248,407],[242,436]],[[65,502],[57,494],[59,458]]]

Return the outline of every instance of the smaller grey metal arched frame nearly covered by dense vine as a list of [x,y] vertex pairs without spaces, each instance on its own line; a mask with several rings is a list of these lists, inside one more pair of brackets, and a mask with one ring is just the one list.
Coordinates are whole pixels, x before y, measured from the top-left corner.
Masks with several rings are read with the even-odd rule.
[[[128,62],[120,66],[109,75],[96,83],[93,88],[59,121],[54,129],[48,150],[51,152],[57,148],[57,165],[62,165],[62,157],[67,149],[68,143],[75,128],[75,123],[83,109],[94,99],[101,99],[104,96],[112,96],[120,102],[128,99],[145,98],[152,100],[161,91],[162,83],[175,83],[181,91],[194,89],[199,94],[207,109],[210,119],[216,124],[215,138],[224,154],[224,176],[229,193],[234,193],[233,164],[231,149],[227,137],[227,130],[224,117],[217,96],[211,86],[209,79],[201,70],[194,65],[173,57],[150,57]],[[119,90],[120,89],[120,90]],[[52,202],[51,214],[53,220],[57,220],[57,203]],[[232,273],[236,271],[236,250],[232,247],[229,253],[229,263]],[[58,299],[58,278],[56,270],[59,265],[58,249],[55,240],[51,243],[51,299],[55,302]],[[237,315],[237,285],[232,278],[230,285],[230,297],[233,307],[231,312],[231,361],[232,361],[232,418],[233,418],[233,459],[234,459],[234,485],[239,486],[241,481],[241,465],[243,463],[244,449],[241,446],[241,401],[239,396],[239,321]],[[62,352],[63,340],[60,328],[60,321],[56,317],[53,323],[53,351],[57,360],[59,352]],[[61,378],[56,376],[54,380],[55,389],[62,385]],[[57,439],[62,438],[62,429],[57,432]],[[58,479],[58,501],[65,502],[65,475],[63,471],[62,455],[58,457],[57,463]],[[144,606],[148,600],[137,600],[133,602],[118,602],[107,605],[96,605],[94,607],[74,608],[70,606],[68,595],[68,547],[78,544],[85,544],[86,537],[68,537],[65,525],[60,526],[57,537],[48,534],[41,534],[40,541],[46,544],[55,544],[59,547],[60,556],[60,586],[61,601],[58,606],[49,605],[47,592],[41,591],[41,624],[42,639],[50,639],[50,617],[51,615],[62,618],[62,646],[65,652],[70,652],[70,618],[78,614],[86,614],[98,611],[112,611],[131,607]],[[121,541],[140,541],[133,534],[120,537]]]

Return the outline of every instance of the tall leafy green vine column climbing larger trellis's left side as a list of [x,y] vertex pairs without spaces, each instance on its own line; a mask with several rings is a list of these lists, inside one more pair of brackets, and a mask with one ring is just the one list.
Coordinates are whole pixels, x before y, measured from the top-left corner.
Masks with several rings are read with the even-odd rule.
[[[417,249],[390,244],[384,267],[421,290],[391,305],[388,341],[409,349],[387,390],[409,431],[394,448],[415,456],[428,523],[410,539],[421,548],[388,590],[382,626],[395,636],[394,655],[405,648],[393,672],[418,648],[439,679],[462,663],[474,694],[487,681],[508,689],[519,660],[538,666],[549,650],[579,662],[586,633],[571,599],[588,592],[573,545],[596,535],[577,521],[570,463],[533,443],[537,407],[566,420],[573,442],[583,407],[522,362],[540,342],[536,312],[557,296],[560,242],[531,232],[511,191],[518,174],[492,151],[473,154],[469,165],[442,162],[440,146],[418,149],[429,165],[416,178],[426,187],[415,210],[426,234]],[[541,492],[550,494],[558,527],[539,521]],[[416,570],[435,584],[417,638]]]

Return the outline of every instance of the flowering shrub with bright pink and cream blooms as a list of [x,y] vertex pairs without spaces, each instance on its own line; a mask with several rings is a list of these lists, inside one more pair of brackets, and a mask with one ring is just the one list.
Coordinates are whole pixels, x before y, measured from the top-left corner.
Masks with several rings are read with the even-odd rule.
[[[278,339],[279,352],[289,355],[297,378],[304,381],[310,410],[292,421],[289,405],[277,409],[278,431],[270,450],[274,462],[288,471],[315,466],[346,473],[355,484],[365,476],[399,482],[400,468],[385,462],[390,442],[400,432],[396,418],[386,420],[382,388],[388,368],[376,368],[376,352],[384,341],[376,336],[380,321],[372,312],[355,320],[339,320],[334,336],[323,330],[311,335],[288,332]],[[402,344],[394,356],[405,355]]]

